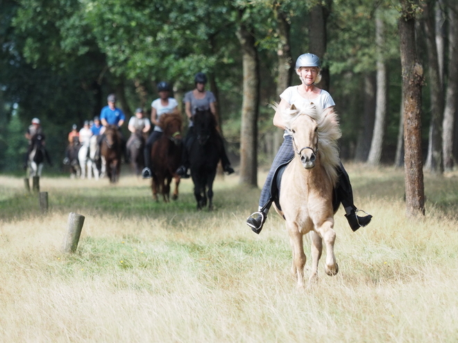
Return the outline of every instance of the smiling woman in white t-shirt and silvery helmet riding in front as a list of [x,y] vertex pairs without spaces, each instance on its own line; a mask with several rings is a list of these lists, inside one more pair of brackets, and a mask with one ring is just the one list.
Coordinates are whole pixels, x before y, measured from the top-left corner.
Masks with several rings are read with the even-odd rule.
[[[273,116],[273,125],[283,130],[285,130],[285,125],[282,122],[281,112],[283,109],[289,108],[290,105],[295,105],[300,108],[304,105],[314,103],[316,107],[321,109],[326,109],[335,105],[328,91],[316,87],[316,83],[321,80],[320,59],[318,56],[313,53],[304,53],[300,55],[296,60],[296,73],[300,78],[301,84],[288,87],[280,94],[280,104],[275,112],[275,116]],[[280,146],[275,159],[273,159],[271,169],[266,177],[266,182],[262,187],[259,209],[246,220],[246,224],[251,227],[256,234],[259,234],[262,230],[262,226],[266,221],[267,213],[269,213],[273,201],[271,197],[271,184],[275,171],[279,166],[286,164],[294,157],[292,137],[287,130],[285,130],[283,137],[284,141],[282,146]],[[359,210],[356,208],[355,204],[353,204],[353,191],[350,179],[341,164],[338,168],[339,183],[336,186],[337,197],[346,211],[345,216],[348,220],[348,224],[353,231],[356,231],[359,227],[368,225],[368,223],[371,222],[372,216],[359,217],[356,215]]]

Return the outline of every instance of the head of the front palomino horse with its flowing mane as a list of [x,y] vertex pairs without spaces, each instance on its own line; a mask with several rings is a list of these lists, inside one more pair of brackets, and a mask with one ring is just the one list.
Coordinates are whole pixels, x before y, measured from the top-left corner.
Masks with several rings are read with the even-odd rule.
[[321,111],[313,103],[300,109],[291,105],[282,111],[282,116],[304,168],[314,168],[318,157],[325,168],[339,163],[337,139],[341,132],[333,109]]

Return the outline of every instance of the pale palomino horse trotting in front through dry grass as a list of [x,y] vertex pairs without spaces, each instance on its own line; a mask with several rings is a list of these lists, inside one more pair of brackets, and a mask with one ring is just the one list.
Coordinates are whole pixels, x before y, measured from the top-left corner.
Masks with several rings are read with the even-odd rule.
[[282,111],[287,131],[293,138],[294,159],[286,167],[280,184],[280,206],[275,210],[285,218],[293,252],[292,272],[303,287],[305,254],[303,235],[312,231],[312,274],[318,278],[318,263],[326,245],[325,272],[335,275],[339,267],[334,256],[333,189],[338,181],[337,139],[341,136],[337,114],[321,111],[314,104]]

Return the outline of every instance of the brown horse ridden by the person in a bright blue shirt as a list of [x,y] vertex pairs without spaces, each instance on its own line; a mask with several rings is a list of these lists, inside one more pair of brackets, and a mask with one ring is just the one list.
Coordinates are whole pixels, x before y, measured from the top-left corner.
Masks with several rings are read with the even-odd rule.
[[102,170],[106,170],[106,174],[112,184],[118,182],[121,171],[121,143],[121,134],[118,131],[118,127],[116,125],[106,126],[101,141],[100,155]]

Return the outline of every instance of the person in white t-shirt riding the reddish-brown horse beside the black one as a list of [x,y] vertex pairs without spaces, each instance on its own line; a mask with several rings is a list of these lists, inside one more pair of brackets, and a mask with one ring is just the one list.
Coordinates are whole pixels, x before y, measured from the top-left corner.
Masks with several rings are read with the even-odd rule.
[[151,123],[154,130],[146,140],[144,148],[145,168],[142,170],[142,177],[149,179],[153,176],[151,172],[151,148],[155,141],[162,137],[162,129],[159,127],[159,118],[162,114],[179,114],[178,102],[175,98],[169,97],[170,85],[167,82],[161,81],[158,83],[159,98],[151,103]]

